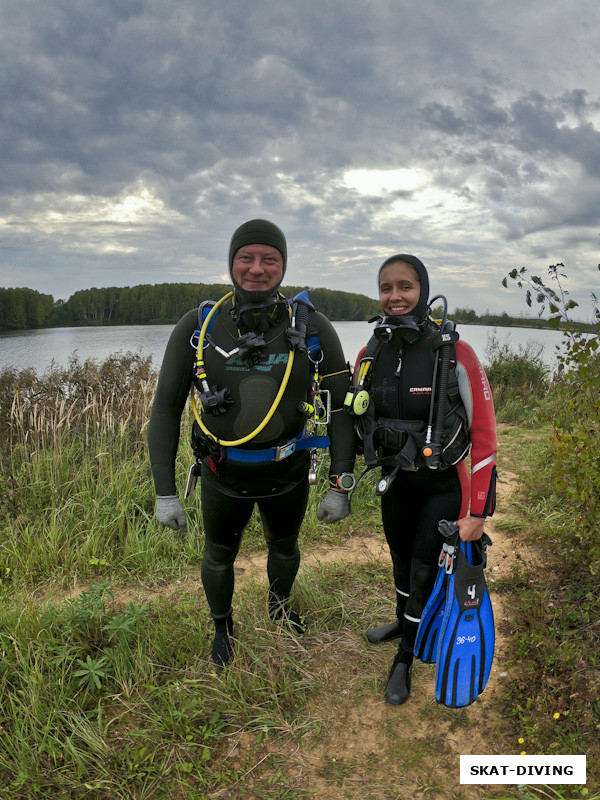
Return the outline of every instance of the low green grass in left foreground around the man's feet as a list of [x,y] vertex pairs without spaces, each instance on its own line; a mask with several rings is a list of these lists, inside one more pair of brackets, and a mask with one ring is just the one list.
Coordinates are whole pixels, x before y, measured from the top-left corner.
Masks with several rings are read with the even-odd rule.
[[236,600],[235,669],[224,671],[208,659],[197,593],[119,604],[102,583],[57,604],[6,604],[0,797],[194,798],[236,784],[243,770],[227,758],[236,738],[260,748],[318,735],[322,720],[308,706],[327,688],[324,649],[343,636],[346,653],[365,658],[368,579],[348,586],[335,565],[299,579],[309,646],[273,628],[264,581],[249,582]]

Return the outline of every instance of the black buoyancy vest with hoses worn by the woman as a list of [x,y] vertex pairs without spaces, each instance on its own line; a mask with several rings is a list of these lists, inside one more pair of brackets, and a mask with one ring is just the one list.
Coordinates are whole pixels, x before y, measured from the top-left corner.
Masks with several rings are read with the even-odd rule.
[[[433,298],[437,299],[439,297]],[[445,298],[442,299],[445,302]],[[348,393],[345,405],[355,418],[365,466],[367,469],[383,467],[384,476],[388,476],[378,486],[378,493],[383,494],[399,469],[426,467],[445,470],[462,461],[470,449],[470,436],[456,373],[455,343],[458,333],[454,323],[446,318],[445,313],[441,323],[427,318],[420,323],[420,344],[417,344],[414,320],[410,320],[404,331],[391,325],[389,318],[376,319],[374,335],[362,354],[354,387]],[[392,338],[393,351],[390,345]],[[393,375],[397,378],[401,376],[404,347],[421,346],[429,350],[429,357],[420,360],[423,370],[431,370],[427,421],[423,418],[398,419],[391,414],[382,416],[376,412],[369,389],[375,364],[386,345],[388,349],[385,355],[394,359],[396,371]],[[426,351],[425,355],[428,355]],[[426,382],[424,378],[422,382]]]

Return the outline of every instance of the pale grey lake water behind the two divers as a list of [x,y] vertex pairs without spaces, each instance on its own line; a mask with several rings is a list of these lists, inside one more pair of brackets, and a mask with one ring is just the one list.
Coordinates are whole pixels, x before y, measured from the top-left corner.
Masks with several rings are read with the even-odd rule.
[[[363,347],[372,330],[368,322],[333,323],[346,358],[351,364]],[[162,356],[173,325],[119,325],[90,328],[46,328],[34,331],[0,333],[0,370],[6,367],[24,369],[33,367],[44,372],[52,362],[67,366],[69,358],[76,355],[80,361],[93,358],[103,361],[112,353],[139,352],[152,356],[153,365],[160,367]],[[486,348],[490,337],[500,344],[507,343],[518,351],[529,342],[543,347],[543,357],[549,368],[556,362],[556,345],[562,340],[557,331],[533,328],[491,328],[485,325],[459,325],[461,337],[467,341],[485,364]]]

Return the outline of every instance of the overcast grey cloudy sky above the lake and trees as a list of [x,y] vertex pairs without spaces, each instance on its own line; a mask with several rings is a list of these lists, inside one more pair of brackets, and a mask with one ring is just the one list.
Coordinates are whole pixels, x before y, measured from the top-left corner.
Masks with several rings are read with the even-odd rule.
[[451,309],[513,267],[600,281],[598,0],[0,0],[0,286],[227,280],[376,296],[418,255]]

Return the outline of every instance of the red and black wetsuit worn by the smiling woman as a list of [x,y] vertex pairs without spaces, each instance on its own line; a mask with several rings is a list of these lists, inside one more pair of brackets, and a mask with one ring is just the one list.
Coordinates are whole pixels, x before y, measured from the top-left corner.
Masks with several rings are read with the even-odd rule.
[[[427,423],[434,363],[430,332],[425,327],[415,343],[400,343],[393,337],[382,345],[371,366],[369,383],[376,418]],[[486,517],[495,504],[496,424],[489,383],[466,342],[456,342],[455,351],[456,376],[471,437],[470,474],[466,460],[444,470],[400,470],[381,498],[397,614],[403,620],[401,647],[410,653],[437,573],[443,543],[438,522],[456,521],[469,513]],[[355,373],[363,353],[358,356]]]

